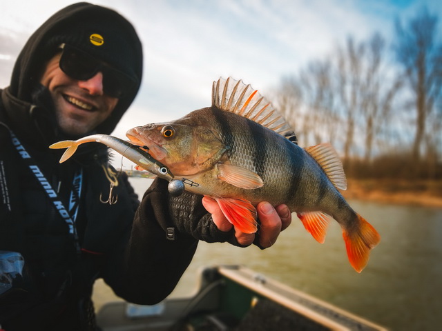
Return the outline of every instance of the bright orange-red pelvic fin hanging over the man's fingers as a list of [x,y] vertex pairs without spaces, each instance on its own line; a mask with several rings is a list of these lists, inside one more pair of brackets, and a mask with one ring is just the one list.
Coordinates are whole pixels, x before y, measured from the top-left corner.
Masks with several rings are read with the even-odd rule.
[[215,198],[222,213],[235,228],[244,233],[255,233],[256,209],[248,200],[233,198]]

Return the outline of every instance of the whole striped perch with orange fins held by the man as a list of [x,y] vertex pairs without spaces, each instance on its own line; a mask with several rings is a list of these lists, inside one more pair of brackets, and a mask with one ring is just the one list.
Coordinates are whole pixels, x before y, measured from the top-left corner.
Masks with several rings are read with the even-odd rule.
[[175,177],[196,184],[186,190],[215,199],[242,232],[256,232],[253,206],[260,201],[287,204],[320,243],[332,216],[343,228],[350,263],[361,272],[380,236],[338,191],[347,182],[332,146],[298,146],[287,121],[242,81],[220,79],[212,91],[211,107],[126,135],[148,146]]

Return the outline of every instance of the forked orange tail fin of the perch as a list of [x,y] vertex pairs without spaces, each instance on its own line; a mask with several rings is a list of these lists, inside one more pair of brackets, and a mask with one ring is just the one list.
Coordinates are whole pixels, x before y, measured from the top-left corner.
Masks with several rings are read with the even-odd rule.
[[359,225],[356,230],[343,230],[345,248],[350,264],[357,272],[361,272],[367,265],[370,250],[374,248],[381,236],[373,226],[358,214]]

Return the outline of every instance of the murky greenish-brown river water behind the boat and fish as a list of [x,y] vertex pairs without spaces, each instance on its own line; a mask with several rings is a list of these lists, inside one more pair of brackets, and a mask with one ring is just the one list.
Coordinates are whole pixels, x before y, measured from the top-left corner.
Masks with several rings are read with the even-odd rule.
[[[140,194],[148,185],[146,179],[131,181]],[[390,330],[442,330],[442,209],[349,203],[382,238],[361,274],[347,261],[336,221],[320,244],[294,215],[267,250],[201,242],[173,297],[191,294],[206,265],[241,264]],[[113,299],[102,283],[96,288],[97,308]]]

